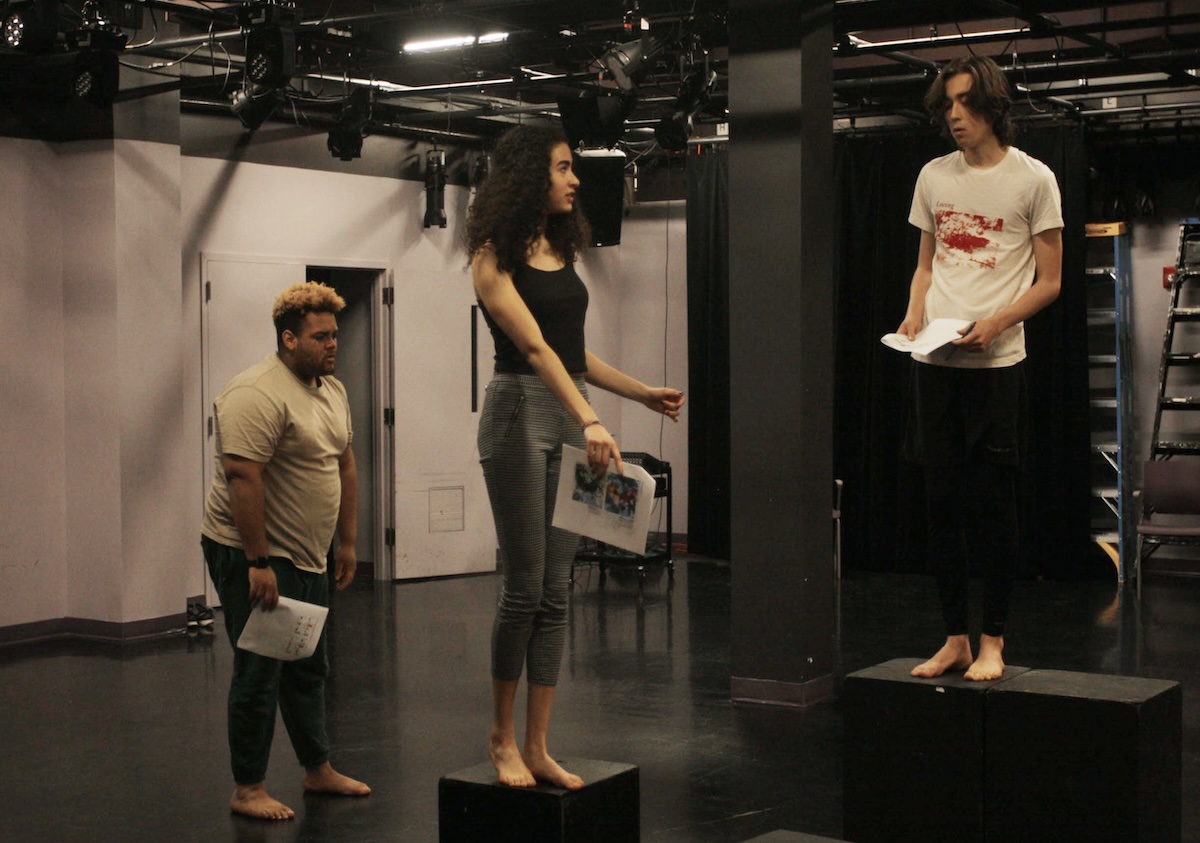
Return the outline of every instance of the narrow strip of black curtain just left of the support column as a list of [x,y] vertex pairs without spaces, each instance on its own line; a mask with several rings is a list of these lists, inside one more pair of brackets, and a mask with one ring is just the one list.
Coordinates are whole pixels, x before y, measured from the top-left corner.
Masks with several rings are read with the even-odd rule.
[[688,550],[730,558],[730,202],[724,150],[688,159]]

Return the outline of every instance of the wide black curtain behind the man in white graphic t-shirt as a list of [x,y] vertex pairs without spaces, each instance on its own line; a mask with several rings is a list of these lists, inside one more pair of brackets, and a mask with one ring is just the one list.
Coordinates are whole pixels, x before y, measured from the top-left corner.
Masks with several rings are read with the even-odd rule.
[[[1021,478],[1024,576],[1111,578],[1088,532],[1087,323],[1084,223],[1087,156],[1076,126],[1022,128],[1063,196],[1063,287],[1028,321],[1030,455]],[[900,459],[911,360],[880,343],[908,301],[919,234],[908,225],[920,167],[949,151],[932,133],[840,136],[835,144],[836,372],[834,472],[845,480],[848,568],[926,570],[919,468]],[[690,519],[689,519],[690,524]]]

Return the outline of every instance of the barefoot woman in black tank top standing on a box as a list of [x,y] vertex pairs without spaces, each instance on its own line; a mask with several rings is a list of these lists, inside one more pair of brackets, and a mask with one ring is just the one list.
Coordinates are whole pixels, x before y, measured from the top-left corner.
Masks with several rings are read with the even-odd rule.
[[[479,450],[504,586],[492,629],[493,717],[488,755],[499,781],[542,781],[575,790],[583,781],[550,755],[546,733],[566,623],[578,537],[551,527],[562,444],[586,448],[600,474],[620,450],[587,399],[593,385],[678,420],[678,389],[647,387],[587,351],[587,288],[575,261],[587,243],[576,203],[580,180],[557,130],[517,126],[500,138],[467,221],[472,279],[496,342],[496,376],[480,417]],[[524,741],[512,709],[528,668]]]

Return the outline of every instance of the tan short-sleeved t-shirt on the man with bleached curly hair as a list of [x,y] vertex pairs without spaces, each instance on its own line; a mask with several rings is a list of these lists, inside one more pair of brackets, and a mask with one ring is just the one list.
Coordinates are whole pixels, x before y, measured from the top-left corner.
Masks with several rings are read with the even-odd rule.
[[323,573],[342,500],[338,460],[354,437],[346,387],[334,377],[310,387],[270,354],[230,381],[212,408],[217,465],[200,532],[241,546],[221,456],[263,462],[270,555]]

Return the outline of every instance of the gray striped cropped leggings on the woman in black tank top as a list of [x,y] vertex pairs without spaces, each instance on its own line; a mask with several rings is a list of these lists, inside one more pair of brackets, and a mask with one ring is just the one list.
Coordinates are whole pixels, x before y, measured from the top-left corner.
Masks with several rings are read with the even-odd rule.
[[[582,377],[576,385],[587,397]],[[496,375],[479,420],[479,460],[500,543],[503,584],[492,624],[492,676],[556,684],[580,537],[550,526],[563,443],[583,431],[536,375]]]

